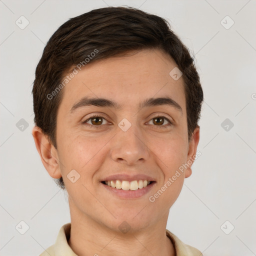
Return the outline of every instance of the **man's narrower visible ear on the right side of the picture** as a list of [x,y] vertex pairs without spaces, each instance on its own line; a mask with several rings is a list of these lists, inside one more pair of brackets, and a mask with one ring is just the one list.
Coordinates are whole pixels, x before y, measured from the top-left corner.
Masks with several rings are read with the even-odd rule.
[[186,159],[186,163],[188,166],[186,167],[186,170],[185,170],[185,178],[189,177],[192,173],[191,166],[194,162],[196,149],[199,142],[199,131],[200,131],[200,127],[197,125],[188,143],[188,152],[187,152],[187,159]]

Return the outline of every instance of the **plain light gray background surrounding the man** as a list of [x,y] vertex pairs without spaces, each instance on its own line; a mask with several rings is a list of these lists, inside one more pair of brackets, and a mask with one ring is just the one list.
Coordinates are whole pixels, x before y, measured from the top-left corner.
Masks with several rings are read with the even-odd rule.
[[[0,255],[37,255],[70,221],[66,194],[34,146],[31,85],[51,34],[68,18],[107,5],[167,18],[195,54],[205,97],[201,156],[167,228],[206,256],[256,255],[255,0],[0,0]],[[21,220],[29,226],[24,234],[15,229]]]

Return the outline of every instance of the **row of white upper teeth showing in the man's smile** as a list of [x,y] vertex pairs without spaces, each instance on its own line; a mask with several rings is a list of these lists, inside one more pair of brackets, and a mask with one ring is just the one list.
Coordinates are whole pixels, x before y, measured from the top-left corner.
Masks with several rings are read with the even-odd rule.
[[106,185],[117,188],[117,189],[123,189],[123,190],[137,190],[138,188],[146,187],[150,181],[148,180],[107,180],[104,181]]

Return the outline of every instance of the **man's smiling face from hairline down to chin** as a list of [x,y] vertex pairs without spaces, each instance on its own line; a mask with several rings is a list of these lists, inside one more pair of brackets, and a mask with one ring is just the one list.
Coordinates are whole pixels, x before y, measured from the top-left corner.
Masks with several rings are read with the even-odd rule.
[[191,169],[172,177],[199,138],[196,130],[188,141],[174,61],[159,50],[131,53],[87,64],[63,88],[57,113],[54,175],[63,177],[70,211],[114,230],[167,220]]

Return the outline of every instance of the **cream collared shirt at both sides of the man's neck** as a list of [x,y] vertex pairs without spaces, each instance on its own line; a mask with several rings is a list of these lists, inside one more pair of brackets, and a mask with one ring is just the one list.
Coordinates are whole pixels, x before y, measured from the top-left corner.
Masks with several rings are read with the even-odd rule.
[[[77,256],[67,243],[70,237],[70,229],[71,223],[64,224],[58,232],[55,243],[43,251],[39,256]],[[199,250],[184,244],[177,238],[177,236],[167,229],[166,235],[174,246],[176,256],[202,256],[202,253]]]

